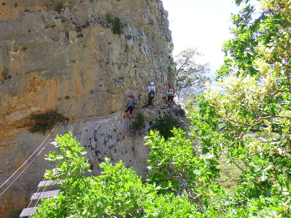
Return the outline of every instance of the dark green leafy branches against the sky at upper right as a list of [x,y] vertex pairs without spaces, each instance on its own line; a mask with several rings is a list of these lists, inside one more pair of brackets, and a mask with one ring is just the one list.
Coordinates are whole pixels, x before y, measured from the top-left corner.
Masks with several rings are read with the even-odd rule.
[[[237,5],[241,3],[242,1],[236,1]],[[260,15],[254,19],[255,14]],[[245,75],[255,76],[258,71],[254,65],[259,58],[256,46],[259,42],[268,44],[271,37],[276,35],[276,25],[283,25],[285,20],[281,14],[272,13],[268,9],[257,12],[251,5],[246,5],[237,15],[232,14],[231,19],[233,27],[230,28],[230,31],[234,37],[224,42],[224,65],[217,71],[217,78],[222,78],[233,72],[231,69],[233,65],[243,69]]]

